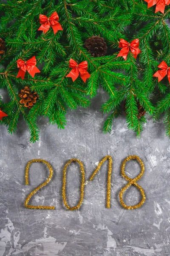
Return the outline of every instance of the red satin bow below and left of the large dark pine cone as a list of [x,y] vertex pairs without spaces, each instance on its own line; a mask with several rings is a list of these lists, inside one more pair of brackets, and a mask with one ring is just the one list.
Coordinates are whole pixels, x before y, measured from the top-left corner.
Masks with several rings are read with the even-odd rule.
[[71,77],[73,81],[77,79],[80,75],[81,79],[85,82],[91,75],[87,72],[88,62],[82,61],[80,64],[77,64],[72,58],[69,60],[69,67],[72,68],[70,73],[66,77]]

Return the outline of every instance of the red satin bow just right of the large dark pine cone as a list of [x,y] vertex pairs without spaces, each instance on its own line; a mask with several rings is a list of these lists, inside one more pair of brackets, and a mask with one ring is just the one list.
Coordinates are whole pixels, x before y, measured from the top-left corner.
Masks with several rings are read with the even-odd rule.
[[139,39],[138,38],[133,40],[130,44],[127,43],[126,40],[120,39],[119,47],[122,49],[120,50],[117,57],[122,56],[125,59],[125,61],[127,59],[129,50],[134,55],[134,58],[137,58],[137,55],[141,52],[141,50],[138,48],[139,47]]

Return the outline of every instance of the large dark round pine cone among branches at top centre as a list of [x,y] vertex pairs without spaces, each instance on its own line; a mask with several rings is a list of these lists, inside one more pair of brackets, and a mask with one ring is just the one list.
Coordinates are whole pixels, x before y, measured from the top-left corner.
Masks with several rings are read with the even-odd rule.
[[107,45],[104,38],[93,35],[91,38],[85,40],[85,47],[88,52],[94,57],[104,56],[107,52]]

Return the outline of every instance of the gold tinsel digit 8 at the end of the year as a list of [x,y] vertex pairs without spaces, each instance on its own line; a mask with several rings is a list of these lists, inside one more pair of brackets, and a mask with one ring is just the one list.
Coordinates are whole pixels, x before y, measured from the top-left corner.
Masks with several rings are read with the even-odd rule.
[[[128,177],[127,175],[125,175],[125,165],[127,161],[130,161],[131,159],[135,159],[140,163],[141,166],[141,173],[134,179],[131,179],[130,177]],[[124,207],[125,209],[131,210],[131,209],[137,209],[139,207],[142,206],[142,204],[144,204],[144,201],[146,199],[145,194],[144,194],[144,190],[142,189],[141,186],[138,185],[138,183],[136,183],[144,174],[144,163],[142,162],[142,160],[140,159],[140,157],[133,155],[133,156],[128,156],[122,163],[122,167],[121,167],[121,172],[122,172],[122,176],[129,181],[129,183],[127,183],[127,185],[125,187],[123,187],[119,193],[119,198],[120,198],[120,203],[122,204],[122,207]],[[142,194],[142,200],[140,201],[139,204],[136,205],[126,205],[123,201],[123,193],[126,191],[126,189],[128,189],[129,186],[134,185],[136,186],[137,189],[139,189],[139,191]]]

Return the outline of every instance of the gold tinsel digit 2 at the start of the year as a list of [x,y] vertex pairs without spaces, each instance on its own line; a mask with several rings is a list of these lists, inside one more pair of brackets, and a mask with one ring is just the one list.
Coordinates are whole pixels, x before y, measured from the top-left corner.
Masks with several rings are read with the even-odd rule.
[[30,201],[31,197],[32,197],[38,190],[40,190],[43,186],[47,185],[48,182],[51,180],[51,178],[52,178],[52,176],[53,176],[53,169],[52,169],[51,165],[50,165],[47,161],[45,161],[45,160],[43,160],[43,159],[33,159],[33,160],[29,161],[29,162],[27,163],[27,166],[26,166],[26,175],[25,175],[25,177],[26,177],[26,185],[29,185],[29,182],[28,182],[28,171],[29,171],[29,167],[30,167],[31,163],[45,163],[46,166],[48,167],[50,173],[49,173],[48,179],[47,179],[44,183],[42,183],[42,184],[40,184],[39,186],[37,186],[37,188],[35,188],[35,189],[28,195],[28,197],[26,198],[26,201],[25,201],[24,206],[25,206],[26,208],[30,208],[30,209],[54,210],[54,209],[55,209],[54,206],[42,206],[42,205],[36,206],[36,205],[30,205],[30,204],[28,204],[28,202]]

